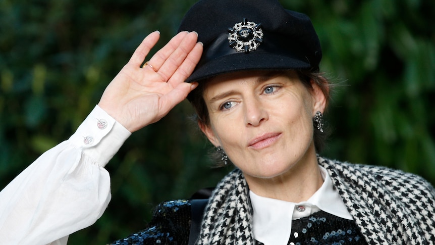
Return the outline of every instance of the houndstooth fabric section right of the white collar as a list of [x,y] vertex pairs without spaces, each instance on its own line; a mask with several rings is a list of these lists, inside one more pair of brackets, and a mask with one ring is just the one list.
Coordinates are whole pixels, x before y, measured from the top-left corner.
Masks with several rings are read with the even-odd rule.
[[370,244],[434,244],[435,189],[386,167],[318,158]]

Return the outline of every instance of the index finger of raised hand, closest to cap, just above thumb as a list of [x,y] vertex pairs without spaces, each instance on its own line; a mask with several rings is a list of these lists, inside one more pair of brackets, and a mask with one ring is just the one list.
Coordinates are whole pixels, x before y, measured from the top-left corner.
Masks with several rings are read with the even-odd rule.
[[183,61],[180,67],[169,79],[168,83],[175,87],[178,83],[184,82],[192,74],[193,70],[199,62],[199,59],[201,59],[202,49],[202,42],[196,43],[192,51],[187,55],[186,59]]

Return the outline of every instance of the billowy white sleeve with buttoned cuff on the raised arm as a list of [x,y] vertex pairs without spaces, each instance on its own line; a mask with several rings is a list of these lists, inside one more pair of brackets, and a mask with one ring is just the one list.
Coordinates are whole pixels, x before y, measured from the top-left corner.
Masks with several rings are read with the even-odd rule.
[[0,192],[0,242],[66,244],[69,234],[93,224],[111,199],[104,166],[130,134],[96,106],[68,140]]

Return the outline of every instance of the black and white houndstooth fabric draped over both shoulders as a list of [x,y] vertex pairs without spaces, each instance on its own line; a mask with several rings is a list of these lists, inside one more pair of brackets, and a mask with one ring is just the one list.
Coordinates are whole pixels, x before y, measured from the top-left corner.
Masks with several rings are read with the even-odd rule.
[[[318,158],[369,244],[434,244],[435,189],[423,178],[386,167]],[[252,208],[240,170],[216,186],[197,244],[255,244]]]

